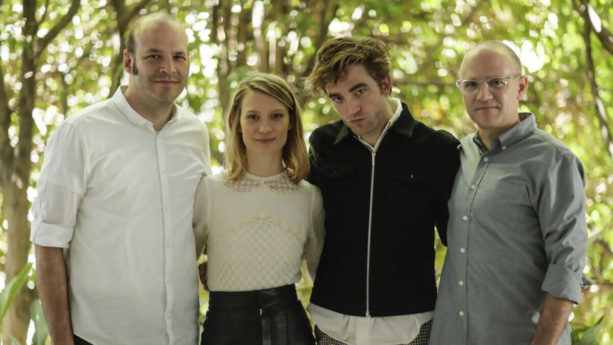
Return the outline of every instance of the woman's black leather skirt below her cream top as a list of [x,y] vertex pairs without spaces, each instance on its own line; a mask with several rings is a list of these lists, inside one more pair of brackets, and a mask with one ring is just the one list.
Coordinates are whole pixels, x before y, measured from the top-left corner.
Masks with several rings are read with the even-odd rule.
[[201,345],[314,345],[295,285],[210,292]]

